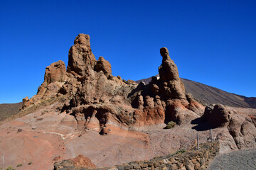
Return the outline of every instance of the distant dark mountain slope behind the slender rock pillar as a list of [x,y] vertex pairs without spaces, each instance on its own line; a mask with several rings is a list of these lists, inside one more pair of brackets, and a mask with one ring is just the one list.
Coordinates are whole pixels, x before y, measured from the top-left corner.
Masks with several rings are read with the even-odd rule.
[[[139,84],[144,81],[145,84],[149,84],[151,77],[147,79],[141,79],[136,81]],[[206,104],[216,104],[221,103],[227,106],[233,106],[238,108],[256,108],[256,98],[255,97],[245,97],[238,94],[231,94],[226,91],[220,90],[218,88],[208,86],[206,84],[201,84],[196,81],[191,81],[188,79],[182,79],[186,93],[191,93],[194,98],[202,101]]]

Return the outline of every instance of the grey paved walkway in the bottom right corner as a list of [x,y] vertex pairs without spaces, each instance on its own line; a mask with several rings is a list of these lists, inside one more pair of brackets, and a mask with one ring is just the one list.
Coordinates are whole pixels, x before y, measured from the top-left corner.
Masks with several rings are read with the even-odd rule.
[[240,150],[215,157],[208,170],[256,169],[256,149]]

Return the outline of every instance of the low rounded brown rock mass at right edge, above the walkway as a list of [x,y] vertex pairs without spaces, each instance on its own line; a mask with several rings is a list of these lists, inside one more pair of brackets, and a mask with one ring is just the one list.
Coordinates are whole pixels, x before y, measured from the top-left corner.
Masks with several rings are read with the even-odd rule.
[[210,123],[212,128],[228,128],[236,147],[244,149],[256,147],[256,127],[254,116],[238,113],[228,106],[216,104],[207,106],[202,120]]

